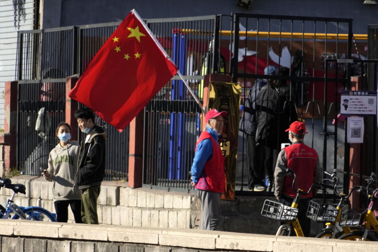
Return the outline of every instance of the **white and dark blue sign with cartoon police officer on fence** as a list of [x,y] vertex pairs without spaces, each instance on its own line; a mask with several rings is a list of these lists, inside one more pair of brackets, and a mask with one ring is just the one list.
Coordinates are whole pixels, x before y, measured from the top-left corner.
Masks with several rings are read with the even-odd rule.
[[341,91],[341,115],[375,115],[377,93],[375,91]]

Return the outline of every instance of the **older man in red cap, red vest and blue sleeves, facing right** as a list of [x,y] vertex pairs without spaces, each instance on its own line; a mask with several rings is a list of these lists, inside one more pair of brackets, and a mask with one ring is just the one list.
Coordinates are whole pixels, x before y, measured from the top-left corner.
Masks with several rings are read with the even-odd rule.
[[225,190],[225,157],[218,143],[226,111],[212,109],[205,115],[206,129],[195,146],[192,182],[201,199],[200,229],[215,230],[220,221],[220,196]]

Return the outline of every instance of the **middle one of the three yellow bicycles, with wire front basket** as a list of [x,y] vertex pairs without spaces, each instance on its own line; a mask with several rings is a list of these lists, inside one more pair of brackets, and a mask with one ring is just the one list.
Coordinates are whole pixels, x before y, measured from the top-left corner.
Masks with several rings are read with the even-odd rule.
[[315,236],[315,238],[330,238],[330,239],[336,239],[340,236],[350,233],[352,231],[360,231],[362,230],[362,227],[356,226],[356,227],[341,227],[340,217],[342,213],[346,213],[348,211],[348,205],[344,204],[344,202],[349,199],[350,195],[353,191],[361,191],[363,189],[362,186],[355,186],[353,187],[349,193],[346,195],[344,193],[341,193],[337,191],[337,185],[339,183],[339,178],[336,177],[336,174],[328,173],[327,171],[324,171],[325,174],[331,177],[331,182],[334,183],[333,191],[335,195],[339,197],[339,202],[335,206],[333,204],[325,204],[320,205],[314,201],[310,201],[310,204],[308,204],[307,208],[307,217],[312,219],[316,222],[323,222],[325,223],[324,229],[318,235]]

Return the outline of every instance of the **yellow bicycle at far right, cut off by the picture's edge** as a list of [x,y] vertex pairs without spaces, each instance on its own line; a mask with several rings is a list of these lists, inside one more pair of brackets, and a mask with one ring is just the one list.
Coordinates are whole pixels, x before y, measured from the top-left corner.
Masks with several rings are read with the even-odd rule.
[[378,241],[376,236],[370,232],[370,226],[373,227],[376,233],[378,233],[378,221],[375,216],[375,203],[378,199],[378,188],[371,194],[369,193],[370,185],[375,181],[376,175],[372,173],[368,179],[366,192],[370,199],[370,204],[367,209],[362,213],[345,213],[341,215],[340,226],[362,226],[361,231],[352,231],[345,235],[340,236],[340,240],[353,240],[353,241]]

